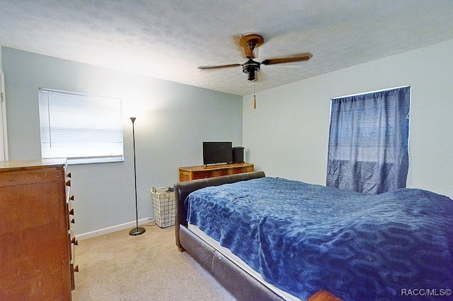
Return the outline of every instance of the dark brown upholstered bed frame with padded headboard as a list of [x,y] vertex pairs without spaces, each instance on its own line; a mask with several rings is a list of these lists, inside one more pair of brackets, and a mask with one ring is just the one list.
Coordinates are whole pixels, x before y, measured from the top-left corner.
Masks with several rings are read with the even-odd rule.
[[[212,177],[208,179],[195,179],[193,181],[178,182],[174,184],[176,217],[175,234],[176,245],[180,252],[187,251],[203,268],[237,300],[283,300],[273,290],[260,283],[243,271],[233,261],[227,259],[216,249],[204,242],[188,230],[187,210],[184,206],[185,198],[193,191],[208,186],[218,186],[227,183],[246,181],[265,177],[264,172],[246,172],[236,175]],[[309,300],[340,300],[325,290],[320,290]]]

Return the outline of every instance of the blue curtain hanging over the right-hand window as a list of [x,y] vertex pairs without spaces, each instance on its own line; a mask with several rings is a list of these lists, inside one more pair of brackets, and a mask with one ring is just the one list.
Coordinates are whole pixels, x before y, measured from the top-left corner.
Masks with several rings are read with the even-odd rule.
[[411,88],[332,100],[327,186],[364,194],[406,187]]

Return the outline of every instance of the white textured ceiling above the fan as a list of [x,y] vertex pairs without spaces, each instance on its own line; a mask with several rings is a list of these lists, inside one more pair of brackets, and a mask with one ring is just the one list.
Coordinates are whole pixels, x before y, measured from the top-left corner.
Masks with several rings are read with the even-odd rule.
[[[236,45],[263,35],[256,90],[453,39],[452,0],[0,0],[0,45],[235,95],[253,93]],[[429,57],[427,58],[429,59]]]

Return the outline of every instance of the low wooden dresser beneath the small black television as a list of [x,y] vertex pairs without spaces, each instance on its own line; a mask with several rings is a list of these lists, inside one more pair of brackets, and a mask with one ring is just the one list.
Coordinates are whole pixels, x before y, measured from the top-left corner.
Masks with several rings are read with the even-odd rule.
[[222,164],[222,165],[200,165],[179,167],[179,182],[192,179],[206,179],[208,177],[220,177],[222,175],[234,175],[242,172],[253,172],[253,164]]

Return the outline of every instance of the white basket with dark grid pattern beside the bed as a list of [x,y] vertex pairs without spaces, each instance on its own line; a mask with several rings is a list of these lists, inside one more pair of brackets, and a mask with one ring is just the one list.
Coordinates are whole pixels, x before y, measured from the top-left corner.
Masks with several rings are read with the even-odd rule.
[[175,194],[173,190],[169,190],[170,187],[151,189],[154,218],[156,218],[156,225],[160,228],[175,225]]

